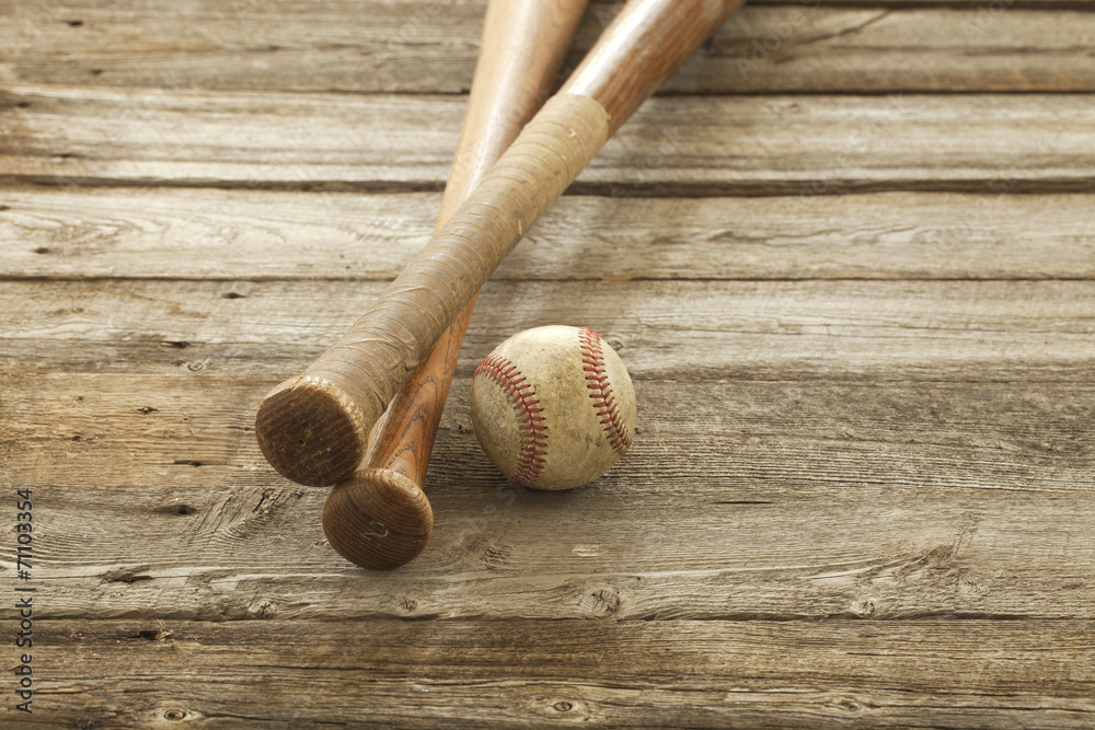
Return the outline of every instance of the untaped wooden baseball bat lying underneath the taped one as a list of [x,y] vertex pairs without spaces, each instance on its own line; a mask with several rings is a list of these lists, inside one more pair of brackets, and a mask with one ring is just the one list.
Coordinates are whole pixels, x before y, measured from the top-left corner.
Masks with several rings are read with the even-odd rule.
[[[585,10],[586,0],[491,0],[435,233],[551,95]],[[429,541],[422,485],[474,306],[472,298],[377,421],[357,472],[327,496],[327,541],[360,566],[399,567]]]

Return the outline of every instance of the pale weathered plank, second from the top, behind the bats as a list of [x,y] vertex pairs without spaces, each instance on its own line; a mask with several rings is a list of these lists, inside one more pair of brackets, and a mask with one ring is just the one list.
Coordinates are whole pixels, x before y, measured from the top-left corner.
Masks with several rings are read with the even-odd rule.
[[[20,89],[0,182],[436,190],[461,97]],[[573,193],[1090,192],[1095,95],[656,99]]]

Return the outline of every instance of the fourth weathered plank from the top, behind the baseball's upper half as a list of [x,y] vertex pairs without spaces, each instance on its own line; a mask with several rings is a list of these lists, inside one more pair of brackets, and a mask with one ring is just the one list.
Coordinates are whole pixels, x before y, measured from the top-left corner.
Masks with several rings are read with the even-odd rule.
[[[93,344],[110,360],[111,348],[127,344],[174,356],[172,344],[187,343],[175,362],[210,358],[201,367],[217,369],[230,362],[198,346],[250,346],[254,362],[291,360],[285,376],[384,286],[7,281],[0,336],[10,362],[49,340],[54,358],[80,369],[111,367],[79,355]],[[583,324],[604,334],[639,379],[1088,382],[1095,357],[1092,281],[498,281],[480,302],[471,357],[528,327]]]

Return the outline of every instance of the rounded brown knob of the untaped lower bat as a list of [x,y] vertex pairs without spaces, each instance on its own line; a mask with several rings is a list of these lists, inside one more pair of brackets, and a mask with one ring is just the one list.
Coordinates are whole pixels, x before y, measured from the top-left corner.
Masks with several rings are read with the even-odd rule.
[[422,488],[399,472],[367,468],[339,484],[323,505],[331,546],[364,568],[391,570],[414,559],[434,531]]

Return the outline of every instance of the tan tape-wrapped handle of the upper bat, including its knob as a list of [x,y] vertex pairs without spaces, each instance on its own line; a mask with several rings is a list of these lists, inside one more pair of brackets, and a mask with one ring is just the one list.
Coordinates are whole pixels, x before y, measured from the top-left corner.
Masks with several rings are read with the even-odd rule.
[[366,455],[367,434],[441,333],[589,163],[609,117],[589,96],[556,94],[471,197],[350,331],[260,406],[267,461],[299,484],[332,486]]

